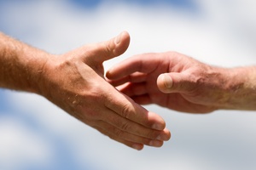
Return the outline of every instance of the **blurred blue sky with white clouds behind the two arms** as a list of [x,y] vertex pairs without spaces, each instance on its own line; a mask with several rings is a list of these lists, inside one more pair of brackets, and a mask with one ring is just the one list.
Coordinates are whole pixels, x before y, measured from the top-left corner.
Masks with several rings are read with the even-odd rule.
[[[121,31],[133,54],[177,51],[211,65],[256,64],[253,0],[0,0],[0,31],[63,54]],[[35,94],[0,89],[2,170],[212,170],[256,168],[255,111],[190,115],[146,105],[172,139],[132,150]]]

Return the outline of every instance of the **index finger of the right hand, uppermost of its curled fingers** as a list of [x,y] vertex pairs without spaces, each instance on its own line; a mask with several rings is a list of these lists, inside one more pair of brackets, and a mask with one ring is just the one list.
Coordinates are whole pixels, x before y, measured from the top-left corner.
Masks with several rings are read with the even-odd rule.
[[121,77],[127,77],[134,72],[148,73],[154,71],[158,65],[159,58],[154,54],[140,54],[133,56],[129,59],[125,59],[120,62],[119,65],[113,66],[107,71],[106,77],[109,79],[119,79]]

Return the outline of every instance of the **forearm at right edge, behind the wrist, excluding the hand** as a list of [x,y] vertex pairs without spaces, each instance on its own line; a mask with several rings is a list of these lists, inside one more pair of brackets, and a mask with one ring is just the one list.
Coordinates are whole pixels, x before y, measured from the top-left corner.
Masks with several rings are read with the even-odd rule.
[[223,109],[256,111],[256,66],[228,69]]

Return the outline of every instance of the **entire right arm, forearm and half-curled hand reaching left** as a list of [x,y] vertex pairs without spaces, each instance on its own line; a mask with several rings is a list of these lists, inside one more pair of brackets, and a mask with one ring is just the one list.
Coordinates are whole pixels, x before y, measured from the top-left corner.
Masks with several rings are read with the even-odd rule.
[[256,110],[256,66],[220,68],[175,52],[140,54],[108,71],[114,86],[141,105],[206,113]]

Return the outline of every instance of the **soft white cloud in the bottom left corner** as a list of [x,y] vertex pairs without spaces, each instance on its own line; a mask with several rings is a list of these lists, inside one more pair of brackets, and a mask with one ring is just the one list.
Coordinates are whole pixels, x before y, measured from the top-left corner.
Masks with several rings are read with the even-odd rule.
[[51,145],[40,134],[15,119],[0,120],[0,167],[22,169],[26,162],[40,167],[49,165],[53,156]]

